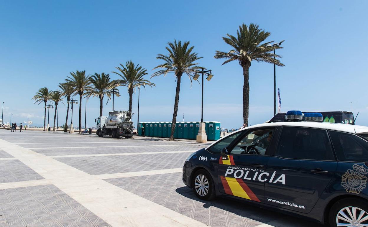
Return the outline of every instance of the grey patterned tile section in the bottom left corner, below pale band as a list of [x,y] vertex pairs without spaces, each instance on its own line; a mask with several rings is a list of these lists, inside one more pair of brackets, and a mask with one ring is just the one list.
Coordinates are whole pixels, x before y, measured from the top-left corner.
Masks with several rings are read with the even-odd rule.
[[0,190],[0,227],[110,227],[54,185]]

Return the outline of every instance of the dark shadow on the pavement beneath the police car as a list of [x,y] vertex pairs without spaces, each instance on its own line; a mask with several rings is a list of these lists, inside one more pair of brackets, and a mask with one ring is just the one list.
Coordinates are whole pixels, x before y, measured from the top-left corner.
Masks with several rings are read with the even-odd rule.
[[214,206],[227,212],[275,227],[327,227],[327,225],[322,225],[314,221],[291,216],[275,210],[268,210],[236,199],[217,197],[212,201],[201,200],[194,195],[193,190],[189,187],[177,188],[176,192],[186,198],[203,203],[203,207],[206,209],[210,206]]

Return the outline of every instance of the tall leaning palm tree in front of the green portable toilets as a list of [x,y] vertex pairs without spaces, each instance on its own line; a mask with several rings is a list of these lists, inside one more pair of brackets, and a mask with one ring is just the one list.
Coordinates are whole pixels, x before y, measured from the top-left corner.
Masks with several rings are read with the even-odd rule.
[[188,47],[189,41],[181,44],[180,40],[178,42],[174,40],[174,43],[169,42],[167,43],[167,45],[169,46],[166,47],[166,50],[169,52],[169,54],[168,55],[158,54],[158,56],[156,57],[156,59],[163,60],[164,63],[153,68],[153,70],[158,68],[163,69],[154,72],[152,74],[152,77],[156,77],[159,75],[166,76],[166,74],[168,74],[169,72],[173,72],[176,77],[176,94],[174,102],[173,122],[171,124],[172,125],[171,135],[169,139],[170,141],[173,141],[176,126],[176,116],[178,113],[178,105],[179,105],[181,76],[183,74],[188,75],[190,82],[192,83],[192,76],[190,74],[194,73],[199,68],[197,66],[198,63],[195,63],[195,61],[197,61],[202,57],[198,57],[197,53],[192,52],[194,46]]

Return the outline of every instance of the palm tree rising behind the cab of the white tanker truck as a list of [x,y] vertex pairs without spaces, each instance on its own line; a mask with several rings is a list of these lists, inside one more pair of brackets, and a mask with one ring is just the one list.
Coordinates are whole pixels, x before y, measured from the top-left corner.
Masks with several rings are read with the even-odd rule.
[[103,97],[107,95],[107,97],[110,99],[109,90],[116,88],[116,86],[118,85],[117,81],[114,81],[114,80],[110,81],[110,75],[105,74],[105,72],[102,72],[101,75],[98,73],[95,73],[95,75],[92,75],[89,78],[89,81],[91,81],[93,85],[93,89],[87,92],[87,95],[88,96],[98,96],[98,98],[100,99],[100,115],[99,116],[102,116]]

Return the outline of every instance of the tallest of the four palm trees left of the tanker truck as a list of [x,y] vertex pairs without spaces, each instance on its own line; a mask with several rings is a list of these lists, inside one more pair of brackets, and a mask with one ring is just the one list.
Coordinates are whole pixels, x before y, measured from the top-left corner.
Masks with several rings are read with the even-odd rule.
[[67,82],[71,82],[74,87],[75,94],[79,94],[79,133],[82,131],[82,96],[84,92],[92,90],[91,81],[89,75],[86,76],[86,71],[76,71],[70,73],[71,77],[65,79]]

